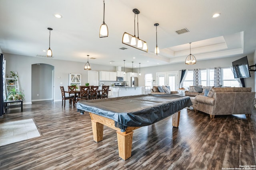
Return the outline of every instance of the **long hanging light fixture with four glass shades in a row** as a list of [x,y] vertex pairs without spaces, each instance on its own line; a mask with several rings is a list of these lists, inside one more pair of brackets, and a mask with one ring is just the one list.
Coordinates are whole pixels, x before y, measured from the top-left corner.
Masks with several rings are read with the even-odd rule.
[[[138,9],[133,9],[132,12],[134,12],[134,35],[131,35],[129,33],[124,32],[122,37],[122,43],[129,45],[130,47],[134,47],[136,49],[148,52],[148,44],[146,41],[139,38],[139,19],[138,14],[140,14],[140,11]],[[138,37],[136,37],[136,26],[135,26],[135,20],[137,15],[137,29],[138,29]],[[131,42],[130,42],[131,40]],[[130,44],[129,44],[130,42]],[[136,45],[137,44],[137,45]]]

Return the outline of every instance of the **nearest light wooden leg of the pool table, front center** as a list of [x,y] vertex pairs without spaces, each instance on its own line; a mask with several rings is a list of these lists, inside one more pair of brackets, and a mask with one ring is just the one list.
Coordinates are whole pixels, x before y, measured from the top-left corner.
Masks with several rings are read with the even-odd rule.
[[130,131],[128,133],[116,131],[116,134],[117,134],[119,156],[123,160],[126,160],[132,156],[133,131]]

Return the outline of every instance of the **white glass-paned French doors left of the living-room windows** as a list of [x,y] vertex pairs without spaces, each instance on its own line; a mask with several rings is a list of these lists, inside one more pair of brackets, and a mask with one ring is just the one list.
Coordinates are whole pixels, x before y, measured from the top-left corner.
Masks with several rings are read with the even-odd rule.
[[171,91],[178,89],[178,71],[157,72],[156,77],[158,86],[170,86]]

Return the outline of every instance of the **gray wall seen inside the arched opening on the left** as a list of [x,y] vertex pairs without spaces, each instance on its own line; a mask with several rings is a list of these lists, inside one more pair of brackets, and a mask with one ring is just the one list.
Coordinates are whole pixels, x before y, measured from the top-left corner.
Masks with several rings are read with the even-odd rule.
[[54,66],[49,64],[32,64],[32,101],[52,100],[52,70]]

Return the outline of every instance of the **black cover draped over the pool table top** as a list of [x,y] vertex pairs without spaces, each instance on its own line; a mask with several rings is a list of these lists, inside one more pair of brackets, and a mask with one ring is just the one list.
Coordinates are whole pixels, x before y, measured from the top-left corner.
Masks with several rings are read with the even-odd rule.
[[145,94],[79,100],[78,112],[88,111],[115,121],[115,127],[142,127],[156,123],[185,107],[192,106],[189,96],[175,94]]

